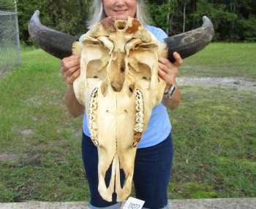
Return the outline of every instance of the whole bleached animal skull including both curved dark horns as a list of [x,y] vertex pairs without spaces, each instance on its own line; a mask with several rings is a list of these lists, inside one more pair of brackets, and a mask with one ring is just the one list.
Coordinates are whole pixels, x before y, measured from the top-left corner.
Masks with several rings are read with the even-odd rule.
[[[173,52],[187,58],[211,42],[214,25],[204,16],[200,28],[158,43],[138,20],[107,18],[86,33],[80,45],[73,44],[77,37],[42,25],[37,10],[29,22],[29,34],[42,50],[56,58],[68,57],[72,50],[80,55],[83,50],[81,74],[74,89],[80,103],[86,106],[91,138],[98,146],[99,193],[110,201],[116,184],[117,200],[124,200],[131,190],[137,143],[165,87],[157,76],[157,47],[161,52],[158,54],[171,62],[175,60]],[[121,127],[130,134],[123,133]],[[107,188],[105,171],[111,162],[112,176]],[[120,167],[126,175],[123,187],[119,181]]]

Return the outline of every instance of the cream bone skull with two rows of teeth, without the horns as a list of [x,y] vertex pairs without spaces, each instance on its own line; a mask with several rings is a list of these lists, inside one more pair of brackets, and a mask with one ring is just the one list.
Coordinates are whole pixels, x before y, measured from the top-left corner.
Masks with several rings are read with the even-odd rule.
[[[75,95],[86,106],[91,139],[98,149],[99,194],[111,201],[116,188],[119,202],[131,192],[138,142],[165,88],[157,74],[159,42],[132,17],[107,17],[86,33],[82,44]],[[111,163],[107,188],[105,173]]]

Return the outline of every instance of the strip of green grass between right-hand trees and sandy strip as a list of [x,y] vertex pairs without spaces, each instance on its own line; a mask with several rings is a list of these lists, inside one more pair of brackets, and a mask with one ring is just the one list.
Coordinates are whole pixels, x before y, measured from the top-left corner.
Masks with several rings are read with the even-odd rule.
[[211,43],[184,60],[179,76],[239,76],[256,79],[256,43]]

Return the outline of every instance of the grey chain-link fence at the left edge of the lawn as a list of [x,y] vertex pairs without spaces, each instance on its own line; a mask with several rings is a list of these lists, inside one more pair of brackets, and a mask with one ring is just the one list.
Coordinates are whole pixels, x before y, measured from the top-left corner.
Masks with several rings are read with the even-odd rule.
[[14,1],[12,11],[0,9],[0,74],[1,71],[20,65],[20,62],[18,13]]

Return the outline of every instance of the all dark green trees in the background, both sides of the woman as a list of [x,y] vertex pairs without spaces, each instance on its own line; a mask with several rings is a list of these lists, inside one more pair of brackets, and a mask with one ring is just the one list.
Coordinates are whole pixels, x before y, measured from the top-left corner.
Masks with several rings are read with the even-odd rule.
[[[12,2],[1,1],[9,2],[8,4]],[[36,9],[41,12],[43,24],[64,33],[80,36],[86,32],[90,4],[91,0],[18,0],[20,38],[30,42],[27,28]],[[152,25],[162,28],[169,35],[200,27],[202,17],[206,15],[214,23],[216,41],[254,42],[256,39],[254,0],[146,0],[146,4]]]

